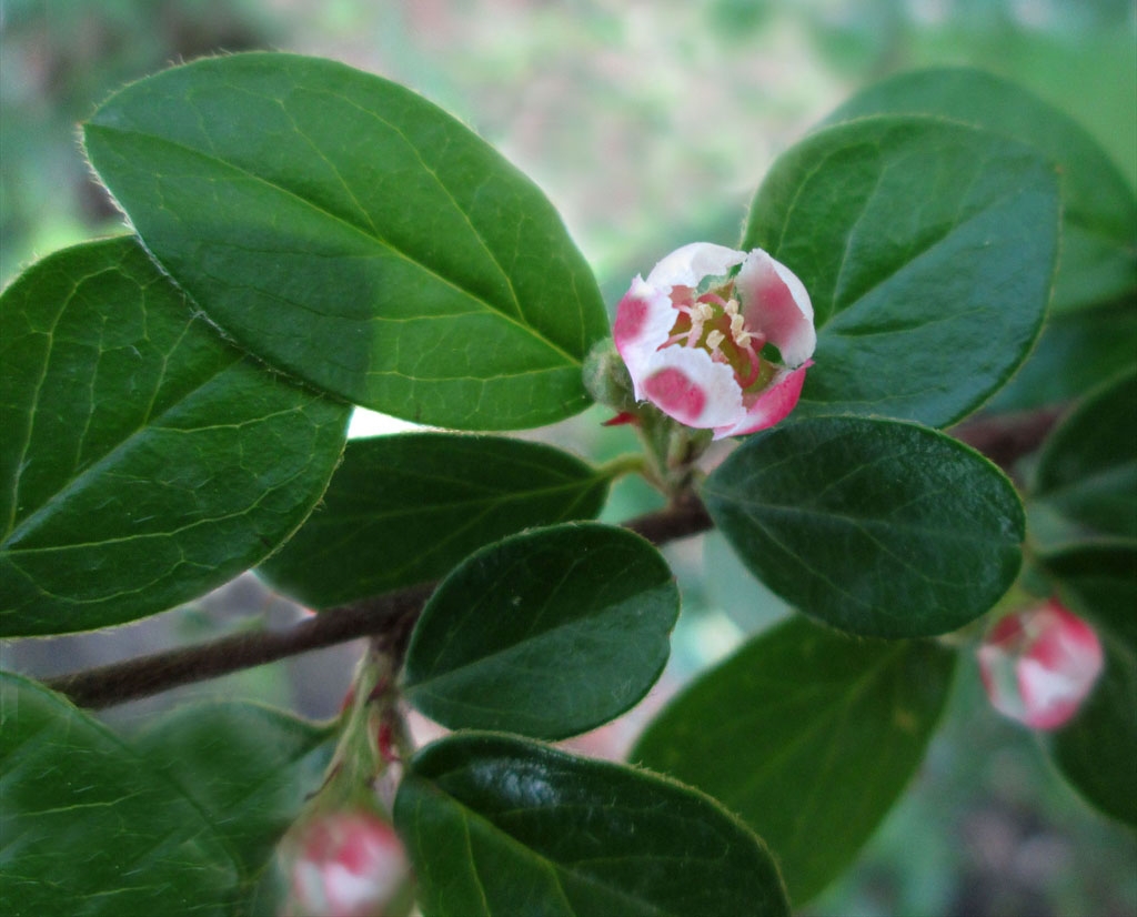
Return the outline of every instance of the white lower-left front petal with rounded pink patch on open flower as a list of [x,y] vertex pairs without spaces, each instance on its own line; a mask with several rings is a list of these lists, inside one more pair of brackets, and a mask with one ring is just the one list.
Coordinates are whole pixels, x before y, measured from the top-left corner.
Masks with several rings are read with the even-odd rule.
[[669,347],[658,351],[642,389],[646,400],[687,426],[733,425],[746,414],[735,370],[712,360],[705,350]]

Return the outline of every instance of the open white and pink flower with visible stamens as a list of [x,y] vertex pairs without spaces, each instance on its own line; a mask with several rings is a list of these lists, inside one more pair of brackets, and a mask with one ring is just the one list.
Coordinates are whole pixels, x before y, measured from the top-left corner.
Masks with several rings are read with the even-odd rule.
[[[773,426],[802,394],[816,347],[802,282],[762,249],[677,249],[636,277],[613,330],[638,401],[714,437]],[[779,361],[764,355],[773,344]]]

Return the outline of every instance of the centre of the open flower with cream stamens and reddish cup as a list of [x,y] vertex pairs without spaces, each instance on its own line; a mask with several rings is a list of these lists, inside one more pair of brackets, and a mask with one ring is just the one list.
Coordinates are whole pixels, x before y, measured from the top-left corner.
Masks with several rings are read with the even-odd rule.
[[720,292],[704,293],[690,305],[674,303],[679,316],[659,349],[677,345],[699,348],[709,353],[715,362],[730,366],[742,390],[764,384],[770,367],[763,372],[758,353],[766,342],[765,337],[746,327],[738,300],[731,295],[733,284],[728,284]]

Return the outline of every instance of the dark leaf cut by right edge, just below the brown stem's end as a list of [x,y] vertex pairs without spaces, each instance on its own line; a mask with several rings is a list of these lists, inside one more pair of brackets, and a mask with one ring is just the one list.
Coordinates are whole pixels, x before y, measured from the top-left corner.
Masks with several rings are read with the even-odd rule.
[[1046,517],[1051,537],[1137,540],[1137,368],[1062,420],[1034,477],[1028,511]]

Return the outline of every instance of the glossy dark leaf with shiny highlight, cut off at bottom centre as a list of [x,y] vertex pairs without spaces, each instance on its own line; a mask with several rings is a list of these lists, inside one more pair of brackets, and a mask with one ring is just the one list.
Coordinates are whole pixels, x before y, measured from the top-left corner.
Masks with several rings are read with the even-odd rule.
[[788,914],[762,842],[714,800],[508,736],[418,752],[395,824],[426,917]]

